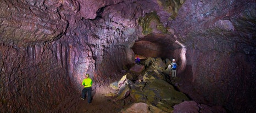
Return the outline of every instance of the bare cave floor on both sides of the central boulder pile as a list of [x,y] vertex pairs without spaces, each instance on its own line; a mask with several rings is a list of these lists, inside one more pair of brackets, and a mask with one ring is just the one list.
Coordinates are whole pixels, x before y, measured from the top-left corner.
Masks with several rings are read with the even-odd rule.
[[[177,82],[181,79],[171,78],[171,82]],[[92,86],[92,103],[87,103],[87,98],[85,100],[81,99],[81,92],[76,92],[74,96],[65,99],[65,102],[59,104],[57,108],[49,112],[120,112],[124,108],[128,108],[133,100],[131,96],[127,96],[123,100],[115,101],[116,96],[109,96],[109,94],[117,94],[117,90],[113,90],[109,85],[114,82],[114,80],[105,80],[104,82],[98,82]],[[192,93],[192,98],[198,100],[201,103],[205,101],[199,96],[198,93],[191,91],[191,84],[189,82],[181,82],[181,87],[179,91],[183,93]],[[175,86],[175,85],[174,85]],[[178,90],[177,89],[177,90]],[[107,96],[108,95],[108,96]],[[201,98],[200,98],[201,97]]]

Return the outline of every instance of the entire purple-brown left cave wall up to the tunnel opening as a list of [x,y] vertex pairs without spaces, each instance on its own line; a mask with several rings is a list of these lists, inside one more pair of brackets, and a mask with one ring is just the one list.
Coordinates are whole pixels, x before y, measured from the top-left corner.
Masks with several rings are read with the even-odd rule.
[[117,79],[123,65],[133,62],[136,20],[119,19],[120,12],[87,20],[90,13],[77,12],[83,4],[77,1],[0,3],[3,112],[51,111],[79,96],[86,73],[95,83]]

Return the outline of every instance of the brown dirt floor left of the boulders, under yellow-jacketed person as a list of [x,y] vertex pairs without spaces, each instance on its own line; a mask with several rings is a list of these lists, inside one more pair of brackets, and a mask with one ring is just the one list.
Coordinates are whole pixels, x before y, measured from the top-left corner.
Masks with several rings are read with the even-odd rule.
[[106,84],[94,84],[92,87],[92,103],[87,103],[81,99],[81,92],[75,94],[75,96],[66,99],[55,110],[50,112],[120,112],[125,107],[132,104],[131,97],[128,96],[124,100],[115,100],[117,91],[109,87],[109,82]]

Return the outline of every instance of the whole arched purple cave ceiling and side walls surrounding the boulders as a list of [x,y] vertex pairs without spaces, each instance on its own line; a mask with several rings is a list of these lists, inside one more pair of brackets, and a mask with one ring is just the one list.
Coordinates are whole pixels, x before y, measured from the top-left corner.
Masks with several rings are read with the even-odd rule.
[[[253,0],[2,0],[1,102],[38,105],[24,111],[47,108],[81,88],[84,73],[95,81],[116,78],[134,53],[148,48],[144,56],[175,58],[180,77],[209,103],[232,112],[253,109],[255,5]],[[41,85],[46,93],[34,90]],[[58,94],[58,87],[65,93]],[[18,98],[15,91],[19,103],[12,100]],[[52,99],[29,100],[35,98],[31,92]],[[244,95],[253,98],[236,99]]]

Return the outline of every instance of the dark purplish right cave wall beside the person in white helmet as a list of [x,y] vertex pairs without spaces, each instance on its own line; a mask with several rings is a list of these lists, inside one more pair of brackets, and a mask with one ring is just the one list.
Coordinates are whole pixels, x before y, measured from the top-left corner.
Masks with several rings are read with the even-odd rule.
[[[231,112],[255,112],[253,9],[253,1],[188,0],[183,4],[172,27],[187,49],[187,66],[180,75],[191,82],[191,91],[203,97],[191,95],[192,99],[223,105]],[[181,60],[180,50],[175,52]]]

